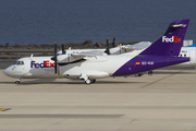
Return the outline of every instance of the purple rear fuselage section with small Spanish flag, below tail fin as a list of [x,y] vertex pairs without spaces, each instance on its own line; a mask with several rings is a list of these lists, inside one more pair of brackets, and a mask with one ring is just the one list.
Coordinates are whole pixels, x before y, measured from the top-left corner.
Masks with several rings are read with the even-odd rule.
[[189,58],[139,55],[122,66],[112,76],[135,74],[187,61]]

